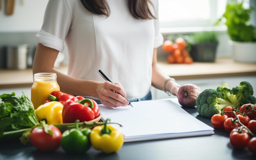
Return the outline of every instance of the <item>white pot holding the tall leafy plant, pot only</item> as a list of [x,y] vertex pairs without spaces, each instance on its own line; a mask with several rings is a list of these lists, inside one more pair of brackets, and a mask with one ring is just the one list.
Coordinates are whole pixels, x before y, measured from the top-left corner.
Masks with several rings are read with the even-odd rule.
[[235,61],[256,63],[256,42],[230,41]]

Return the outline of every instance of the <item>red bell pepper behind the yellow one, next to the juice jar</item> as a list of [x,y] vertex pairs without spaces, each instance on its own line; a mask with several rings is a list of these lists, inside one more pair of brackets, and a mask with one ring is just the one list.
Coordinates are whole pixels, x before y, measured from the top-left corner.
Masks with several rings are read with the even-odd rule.
[[71,95],[71,94],[66,94],[66,93],[63,93],[61,91],[58,91],[58,90],[55,90],[55,91],[52,91],[47,100],[45,101],[45,103],[47,102],[51,102],[51,101],[58,101],[58,102],[61,102],[63,105],[64,103],[68,100],[68,99],[71,99],[71,98],[74,98],[75,96]]

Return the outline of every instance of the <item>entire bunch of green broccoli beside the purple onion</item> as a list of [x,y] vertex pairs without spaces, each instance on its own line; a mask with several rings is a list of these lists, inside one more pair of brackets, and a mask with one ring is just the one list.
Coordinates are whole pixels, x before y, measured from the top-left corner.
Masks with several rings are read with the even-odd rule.
[[227,83],[222,83],[216,90],[207,89],[200,93],[195,104],[201,116],[211,118],[227,106],[236,108],[243,104],[255,104],[253,93],[252,85],[246,81],[240,82],[239,86],[232,89]]

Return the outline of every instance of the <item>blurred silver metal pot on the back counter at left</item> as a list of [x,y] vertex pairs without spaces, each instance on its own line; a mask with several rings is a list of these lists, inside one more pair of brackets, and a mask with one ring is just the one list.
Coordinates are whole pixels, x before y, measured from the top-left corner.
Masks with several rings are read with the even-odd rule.
[[23,70],[27,68],[27,44],[7,47],[7,68]]

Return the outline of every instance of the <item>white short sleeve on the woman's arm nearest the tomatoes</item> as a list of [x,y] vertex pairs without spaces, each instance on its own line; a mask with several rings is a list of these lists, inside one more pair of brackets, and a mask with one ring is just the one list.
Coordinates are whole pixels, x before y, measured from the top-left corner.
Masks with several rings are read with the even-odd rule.
[[158,0],[155,2],[155,17],[157,19],[154,20],[154,26],[155,26],[155,41],[154,41],[154,48],[157,48],[159,46],[162,46],[164,42],[164,38],[159,30],[159,20],[158,20]]

